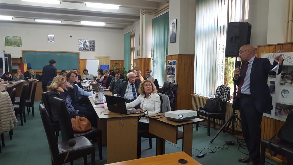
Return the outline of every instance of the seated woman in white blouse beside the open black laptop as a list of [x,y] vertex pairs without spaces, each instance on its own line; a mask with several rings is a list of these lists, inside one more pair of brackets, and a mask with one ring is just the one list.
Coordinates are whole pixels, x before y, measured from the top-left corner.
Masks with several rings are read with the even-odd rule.
[[[135,107],[139,103],[141,104],[141,112],[146,115],[152,115],[161,112],[161,100],[157,94],[157,89],[152,81],[144,80],[138,87],[138,93],[140,94],[133,102],[127,103],[126,108]],[[149,119],[141,117],[138,121],[138,129],[149,129]]]

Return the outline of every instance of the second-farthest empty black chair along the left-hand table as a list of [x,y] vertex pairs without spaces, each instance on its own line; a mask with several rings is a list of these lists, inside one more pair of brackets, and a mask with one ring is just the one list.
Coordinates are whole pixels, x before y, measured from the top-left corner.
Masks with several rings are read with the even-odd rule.
[[21,126],[23,126],[22,114],[23,114],[24,122],[26,122],[26,120],[25,120],[25,100],[26,100],[27,92],[28,92],[28,84],[25,84],[22,87],[19,105],[15,105],[15,104],[13,105],[15,113],[20,115]]

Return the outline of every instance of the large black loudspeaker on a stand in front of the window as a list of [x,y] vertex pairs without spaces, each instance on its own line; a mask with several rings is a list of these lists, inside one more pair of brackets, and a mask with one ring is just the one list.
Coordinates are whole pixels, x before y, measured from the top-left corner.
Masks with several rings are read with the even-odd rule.
[[225,57],[238,57],[240,47],[250,44],[250,35],[251,24],[248,22],[229,22]]

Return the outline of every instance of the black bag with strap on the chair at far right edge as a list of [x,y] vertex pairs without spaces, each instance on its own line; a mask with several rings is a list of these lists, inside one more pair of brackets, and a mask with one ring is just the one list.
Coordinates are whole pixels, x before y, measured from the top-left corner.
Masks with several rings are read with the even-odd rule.
[[[285,124],[282,126],[280,131],[275,134],[268,143],[268,151],[270,152],[271,156],[276,156],[281,148],[287,147],[287,146],[293,146],[293,113],[289,113],[287,116],[287,119],[285,121]],[[282,145],[277,148],[274,154],[271,152],[271,140],[274,139],[274,137],[279,137],[281,140],[288,143],[288,145]]]

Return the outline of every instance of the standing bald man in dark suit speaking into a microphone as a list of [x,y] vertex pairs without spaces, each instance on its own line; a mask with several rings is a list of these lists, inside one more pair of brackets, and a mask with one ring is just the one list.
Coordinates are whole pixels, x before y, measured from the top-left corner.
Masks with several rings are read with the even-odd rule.
[[[260,162],[260,124],[263,112],[273,109],[268,75],[280,74],[283,57],[276,56],[271,65],[267,58],[255,57],[254,47],[251,45],[242,46],[239,57],[242,66],[240,70],[234,70],[233,81],[238,90],[233,107],[240,110],[241,128],[249,156],[238,161],[255,165]],[[271,71],[276,65],[280,65],[278,73]]]

